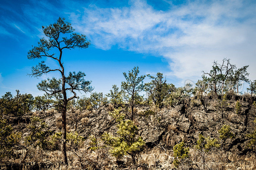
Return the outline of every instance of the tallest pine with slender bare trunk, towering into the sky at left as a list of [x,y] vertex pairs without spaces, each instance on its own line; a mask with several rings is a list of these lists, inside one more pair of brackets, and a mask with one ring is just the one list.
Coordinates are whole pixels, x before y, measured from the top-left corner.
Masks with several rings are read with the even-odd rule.
[[[55,106],[60,109],[62,117],[62,153],[64,156],[64,163],[68,164],[66,153],[66,112],[68,101],[76,98],[76,91],[90,92],[92,86],[91,81],[85,81],[85,73],[79,71],[69,72],[65,75],[65,69],[62,61],[62,53],[64,50],[71,50],[75,48],[88,48],[90,41],[86,40],[86,35],[74,33],[75,29],[71,24],[65,21],[64,18],[57,19],[57,22],[50,24],[49,26],[42,26],[43,33],[48,39],[41,38],[37,46],[34,46],[28,51],[28,59],[41,59],[49,58],[57,61],[59,68],[50,68],[44,61],[38,63],[38,65],[31,68],[31,76],[38,77],[50,72],[59,72],[60,78],[53,77],[52,79],[42,80],[38,83],[37,88],[40,91],[44,91],[48,96],[54,96],[58,99]],[[65,36],[66,34],[69,37]],[[57,52],[58,55],[55,55]],[[72,94],[71,97],[67,97],[67,91]]]

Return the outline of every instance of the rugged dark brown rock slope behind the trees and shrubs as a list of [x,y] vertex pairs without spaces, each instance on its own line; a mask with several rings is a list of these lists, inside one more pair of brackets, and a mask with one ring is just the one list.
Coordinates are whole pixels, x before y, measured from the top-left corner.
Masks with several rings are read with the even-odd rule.
[[[211,106],[207,113],[204,112],[202,106],[192,106],[190,98],[186,98],[183,104],[178,104],[172,108],[163,108],[155,115],[136,116],[134,122],[139,128],[139,135],[142,136],[146,145],[150,148],[161,143],[166,147],[173,147],[175,144],[185,141],[189,146],[193,146],[198,139],[198,135],[205,137],[219,138],[218,130],[223,124],[230,125],[233,133],[236,135],[229,142],[229,149],[236,150],[238,153],[244,153],[244,141],[247,133],[252,133],[252,122],[255,119],[255,109],[252,108],[252,102],[255,98],[241,98],[240,96],[229,96],[229,105],[222,119],[212,99]],[[194,99],[195,100],[195,99]],[[235,103],[239,100],[242,105],[242,112],[235,113]],[[84,112],[84,111],[83,111]],[[90,135],[102,135],[104,132],[116,134],[117,126],[115,120],[109,115],[108,106],[101,106],[95,111],[86,114],[83,113],[82,118],[88,119],[86,124],[79,121],[77,124],[77,133],[88,138]],[[81,113],[82,114],[82,113]],[[22,118],[8,118],[15,128],[25,133],[26,125],[29,123],[31,115]],[[42,119],[51,127],[54,132],[59,131],[58,121],[60,121],[60,113],[52,113],[51,115],[39,114]],[[67,122],[69,120],[69,112],[67,113]],[[68,131],[74,131],[74,123],[68,123]]]

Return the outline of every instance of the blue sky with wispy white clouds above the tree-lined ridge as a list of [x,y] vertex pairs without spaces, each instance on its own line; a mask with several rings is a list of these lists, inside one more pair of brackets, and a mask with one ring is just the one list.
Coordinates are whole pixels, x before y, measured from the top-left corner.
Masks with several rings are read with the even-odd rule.
[[42,95],[36,84],[59,76],[27,76],[40,61],[28,60],[28,50],[43,37],[41,26],[58,17],[92,42],[87,49],[64,51],[66,73],[85,72],[97,92],[107,93],[112,84],[120,87],[122,73],[134,66],[141,74],[162,72],[169,83],[183,86],[224,57],[237,67],[250,65],[249,78],[256,79],[255,1],[16,0],[1,2],[0,17],[1,96],[15,89]]

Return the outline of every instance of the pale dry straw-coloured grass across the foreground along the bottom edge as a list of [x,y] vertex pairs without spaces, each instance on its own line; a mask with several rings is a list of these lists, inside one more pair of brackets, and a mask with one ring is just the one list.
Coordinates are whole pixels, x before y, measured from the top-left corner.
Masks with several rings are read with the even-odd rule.
[[[116,159],[108,152],[109,148],[103,143],[99,144],[99,148],[92,151],[87,145],[78,148],[76,151],[68,151],[69,166],[63,165],[63,156],[61,151],[43,151],[39,147],[31,149],[30,155],[26,162],[39,163],[43,162],[46,165],[50,162],[51,170],[79,170],[79,169],[111,169],[115,165]],[[205,163],[202,161],[202,153],[195,148],[190,148],[190,158],[182,161],[177,169],[200,169],[200,170],[254,170],[256,169],[256,155],[238,156],[236,153],[226,154],[220,150],[214,150],[209,154],[204,153]],[[131,163],[131,158],[126,156],[123,158],[126,164]],[[150,169],[157,169],[156,164],[161,165],[163,170],[173,169],[172,165],[174,158],[172,150],[161,150],[160,148],[145,149],[138,156],[138,164],[147,164]],[[13,160],[19,163],[21,159]]]

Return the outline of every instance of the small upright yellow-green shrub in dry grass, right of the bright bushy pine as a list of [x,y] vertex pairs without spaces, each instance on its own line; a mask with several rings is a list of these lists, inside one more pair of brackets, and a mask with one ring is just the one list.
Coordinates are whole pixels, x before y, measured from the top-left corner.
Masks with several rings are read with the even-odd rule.
[[173,146],[173,157],[174,157],[173,165],[175,167],[179,167],[180,163],[184,159],[189,158],[189,148],[185,148],[184,146],[185,146],[184,142],[178,143],[175,146]]

